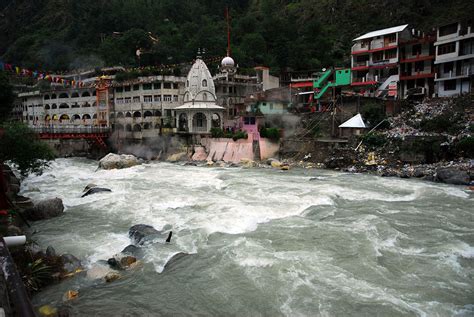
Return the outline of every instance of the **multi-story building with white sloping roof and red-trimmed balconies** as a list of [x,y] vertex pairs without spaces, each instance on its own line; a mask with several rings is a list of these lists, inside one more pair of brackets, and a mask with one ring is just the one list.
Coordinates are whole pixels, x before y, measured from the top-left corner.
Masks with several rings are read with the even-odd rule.
[[351,86],[366,96],[397,98],[400,42],[409,38],[408,24],[355,38],[351,53]]

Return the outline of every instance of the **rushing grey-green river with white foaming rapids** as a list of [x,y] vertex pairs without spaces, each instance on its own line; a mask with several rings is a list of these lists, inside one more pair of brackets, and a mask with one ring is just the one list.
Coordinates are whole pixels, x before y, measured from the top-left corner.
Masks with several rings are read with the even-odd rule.
[[[112,189],[81,198],[94,183]],[[22,183],[60,197],[35,222],[41,246],[86,268],[130,244],[128,229],[173,230],[112,283],[79,274],[34,297],[74,316],[472,316],[474,195],[465,187],[326,170],[149,163],[97,170],[58,159]],[[190,255],[163,270],[172,255]]]

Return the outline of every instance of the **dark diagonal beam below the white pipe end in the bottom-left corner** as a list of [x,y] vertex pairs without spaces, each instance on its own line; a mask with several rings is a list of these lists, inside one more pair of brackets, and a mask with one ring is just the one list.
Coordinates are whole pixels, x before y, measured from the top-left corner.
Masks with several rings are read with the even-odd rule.
[[28,293],[26,292],[25,285],[23,284],[20,274],[18,274],[15,262],[13,262],[7,244],[2,237],[0,237],[0,265],[3,270],[3,275],[5,276],[8,295],[13,303],[16,316],[35,317],[36,314],[28,297]]

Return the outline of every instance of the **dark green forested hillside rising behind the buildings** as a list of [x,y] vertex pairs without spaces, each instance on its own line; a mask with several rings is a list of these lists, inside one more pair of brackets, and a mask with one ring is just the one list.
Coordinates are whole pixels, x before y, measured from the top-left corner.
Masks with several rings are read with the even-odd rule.
[[237,62],[274,71],[344,65],[360,33],[474,12],[465,0],[0,0],[0,56],[51,70],[137,65],[137,48],[142,65],[188,62],[199,47],[223,56],[226,6]]

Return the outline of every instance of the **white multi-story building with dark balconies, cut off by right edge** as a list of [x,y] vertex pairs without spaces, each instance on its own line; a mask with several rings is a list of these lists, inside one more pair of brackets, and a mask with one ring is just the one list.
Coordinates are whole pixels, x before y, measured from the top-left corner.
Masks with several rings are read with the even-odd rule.
[[467,23],[452,23],[437,29],[435,82],[439,97],[472,91],[474,76],[474,29]]

